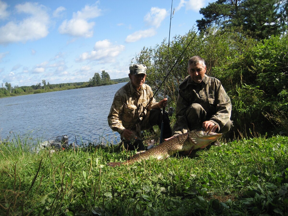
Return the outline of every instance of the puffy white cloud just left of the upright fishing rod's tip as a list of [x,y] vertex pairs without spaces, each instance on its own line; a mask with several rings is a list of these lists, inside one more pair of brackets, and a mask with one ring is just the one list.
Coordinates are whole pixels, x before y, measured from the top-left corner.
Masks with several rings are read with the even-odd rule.
[[161,25],[161,22],[167,16],[167,11],[165,9],[161,9],[158,7],[151,7],[151,10],[146,16],[144,20],[148,25],[155,26],[158,28]]

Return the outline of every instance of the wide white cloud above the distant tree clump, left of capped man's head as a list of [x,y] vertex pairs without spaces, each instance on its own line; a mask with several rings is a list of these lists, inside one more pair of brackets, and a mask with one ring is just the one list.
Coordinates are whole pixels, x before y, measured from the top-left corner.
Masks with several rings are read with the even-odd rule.
[[93,51],[82,53],[79,58],[75,59],[77,62],[85,60],[98,61],[99,64],[107,62],[115,62],[115,58],[124,50],[123,45],[113,45],[109,40],[97,41],[94,45]]

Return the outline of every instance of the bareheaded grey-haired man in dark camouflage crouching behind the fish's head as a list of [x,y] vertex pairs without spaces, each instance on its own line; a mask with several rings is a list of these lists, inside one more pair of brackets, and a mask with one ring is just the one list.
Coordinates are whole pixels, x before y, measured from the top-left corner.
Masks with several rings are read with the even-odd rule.
[[188,73],[179,86],[173,136],[201,127],[208,130],[214,125],[217,128],[213,132],[228,132],[233,126],[232,105],[221,82],[205,74],[205,61],[200,56],[190,58]]

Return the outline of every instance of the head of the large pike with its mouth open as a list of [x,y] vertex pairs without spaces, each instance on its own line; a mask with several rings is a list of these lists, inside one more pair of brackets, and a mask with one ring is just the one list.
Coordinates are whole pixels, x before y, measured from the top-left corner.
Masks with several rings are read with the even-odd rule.
[[194,149],[205,147],[205,145],[209,145],[210,143],[216,141],[217,139],[221,138],[223,134],[217,134],[212,132],[213,127],[209,130],[204,130],[203,128],[192,130],[189,132],[189,139],[194,144]]

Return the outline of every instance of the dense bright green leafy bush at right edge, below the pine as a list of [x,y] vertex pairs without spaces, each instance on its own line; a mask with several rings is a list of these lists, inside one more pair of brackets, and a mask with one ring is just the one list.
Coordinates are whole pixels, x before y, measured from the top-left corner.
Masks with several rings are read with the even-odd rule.
[[[237,88],[230,90],[230,94],[233,95],[232,103],[235,105],[233,107],[234,118],[236,117],[234,121],[242,122],[241,125],[245,126],[251,122],[257,122],[255,129],[258,132],[264,132],[270,128],[268,133],[277,132],[280,130],[279,127],[283,128],[286,124],[285,119],[282,123],[276,122],[276,124],[273,121],[268,122],[268,119],[271,120],[269,118],[271,116],[274,119],[283,119],[279,113],[287,113],[288,111],[287,44],[287,36],[273,36],[270,39],[260,41],[256,46],[247,49],[240,58],[234,60],[231,67],[228,67],[230,70],[236,71],[234,82],[240,80],[241,83],[246,84],[246,86],[240,86],[244,92],[250,88],[250,92],[244,93],[245,97],[240,97],[240,99],[237,98],[237,93],[234,94]],[[262,93],[259,94],[259,92]],[[256,96],[257,101],[249,101],[252,96]],[[239,101],[243,101],[245,106],[251,109],[250,112],[253,115],[243,113],[242,108],[239,109],[237,104]],[[264,119],[263,116],[268,118]],[[244,121],[245,119],[247,121]]]

